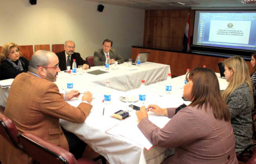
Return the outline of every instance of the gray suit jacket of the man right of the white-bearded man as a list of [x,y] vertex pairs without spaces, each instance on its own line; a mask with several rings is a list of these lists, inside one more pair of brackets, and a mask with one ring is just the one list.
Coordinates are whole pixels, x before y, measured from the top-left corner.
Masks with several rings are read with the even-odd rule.
[[[124,58],[116,53],[115,49],[110,50],[110,59],[115,59],[119,64],[124,62]],[[106,57],[103,49],[99,49],[94,52],[93,61],[95,66],[105,65]]]

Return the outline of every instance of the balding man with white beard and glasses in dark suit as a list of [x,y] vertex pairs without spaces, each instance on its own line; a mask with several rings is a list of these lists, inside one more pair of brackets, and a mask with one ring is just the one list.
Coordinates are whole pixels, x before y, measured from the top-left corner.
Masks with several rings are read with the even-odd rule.
[[75,43],[73,41],[66,41],[64,49],[65,51],[56,53],[58,61],[60,61],[58,67],[60,67],[61,71],[67,70],[67,66],[70,66],[70,69],[72,69],[73,59],[75,59],[76,67],[83,65],[82,68],[84,70],[90,68],[89,63],[81,58],[80,53],[75,52]]

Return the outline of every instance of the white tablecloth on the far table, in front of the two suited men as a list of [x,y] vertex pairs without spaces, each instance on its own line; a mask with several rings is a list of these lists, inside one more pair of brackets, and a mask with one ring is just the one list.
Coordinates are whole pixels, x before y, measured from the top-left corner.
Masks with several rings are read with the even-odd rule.
[[[137,70],[126,70],[135,68]],[[77,72],[76,75],[72,76],[75,89],[86,88],[86,85],[90,82],[105,86],[106,80],[110,81],[112,89],[119,91],[129,91],[139,88],[141,80],[145,80],[145,85],[153,84],[167,79],[168,73],[171,73],[170,65],[145,62],[141,63],[140,67],[136,65],[128,66],[128,63],[119,64],[117,69],[105,70],[105,68],[92,67],[88,71],[102,70],[108,73],[94,75],[84,73],[82,75]],[[58,73],[60,79],[67,78],[67,73]],[[66,81],[58,79],[56,84],[62,85],[65,88]],[[62,83],[62,84],[61,84]]]

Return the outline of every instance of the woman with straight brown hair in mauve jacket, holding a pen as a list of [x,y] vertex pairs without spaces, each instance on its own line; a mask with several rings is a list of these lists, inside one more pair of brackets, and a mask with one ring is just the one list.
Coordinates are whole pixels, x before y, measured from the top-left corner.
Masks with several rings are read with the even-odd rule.
[[149,121],[145,106],[136,112],[138,127],[155,146],[175,148],[163,163],[238,163],[230,113],[213,70],[189,73],[183,97],[191,104],[178,108],[149,105],[148,111],[172,118],[162,129]]

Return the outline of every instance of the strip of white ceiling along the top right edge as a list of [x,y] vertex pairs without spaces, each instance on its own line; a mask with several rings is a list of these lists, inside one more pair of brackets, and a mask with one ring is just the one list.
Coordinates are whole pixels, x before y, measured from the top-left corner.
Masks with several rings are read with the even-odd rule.
[[[256,4],[243,4],[238,0],[86,0],[106,4],[115,4],[140,9],[256,9]],[[177,2],[196,2],[199,5],[181,5]],[[146,4],[150,6],[134,6],[131,4]]]

